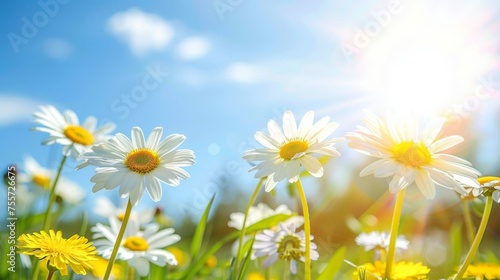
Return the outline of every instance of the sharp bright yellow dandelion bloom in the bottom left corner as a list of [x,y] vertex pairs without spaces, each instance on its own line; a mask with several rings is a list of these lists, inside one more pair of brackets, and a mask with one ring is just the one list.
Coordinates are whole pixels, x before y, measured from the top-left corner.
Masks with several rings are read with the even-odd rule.
[[97,251],[87,238],[73,235],[69,239],[62,237],[62,232],[23,234],[18,238],[21,254],[32,255],[41,260],[47,259],[49,265],[68,275],[68,265],[77,274],[87,274],[92,269],[91,261],[97,260]]

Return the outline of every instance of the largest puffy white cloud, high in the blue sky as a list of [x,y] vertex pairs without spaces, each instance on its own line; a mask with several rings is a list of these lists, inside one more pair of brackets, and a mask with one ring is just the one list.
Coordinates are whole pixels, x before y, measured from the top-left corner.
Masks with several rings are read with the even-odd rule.
[[108,30],[124,40],[137,56],[164,49],[174,36],[174,29],[162,17],[137,8],[114,14]]

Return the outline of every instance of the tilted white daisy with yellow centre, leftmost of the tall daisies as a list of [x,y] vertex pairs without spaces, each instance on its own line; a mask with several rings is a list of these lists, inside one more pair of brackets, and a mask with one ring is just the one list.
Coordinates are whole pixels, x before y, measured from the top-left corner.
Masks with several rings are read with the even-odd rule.
[[47,132],[49,138],[42,142],[44,145],[58,143],[64,146],[63,154],[78,158],[83,152],[103,140],[108,139],[108,135],[115,129],[115,124],[108,122],[97,128],[97,119],[87,117],[82,125],[78,116],[71,110],[61,114],[54,106],[41,106],[40,112],[34,113],[35,123],[42,126],[35,127],[34,130]]

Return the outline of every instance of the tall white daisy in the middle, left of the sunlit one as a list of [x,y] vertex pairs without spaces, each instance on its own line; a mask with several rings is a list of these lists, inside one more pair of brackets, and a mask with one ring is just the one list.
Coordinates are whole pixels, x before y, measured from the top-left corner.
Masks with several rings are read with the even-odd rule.
[[269,134],[255,133],[255,139],[265,148],[245,152],[243,158],[247,161],[261,161],[250,171],[257,170],[255,178],[267,176],[265,189],[271,191],[283,179],[290,183],[299,179],[300,167],[314,177],[323,176],[323,166],[311,154],[340,156],[333,147],[341,138],[325,140],[338,127],[330,123],[329,117],[324,117],[313,123],[314,112],[307,112],[299,126],[292,112],[283,115],[283,129],[274,120],[267,123]]

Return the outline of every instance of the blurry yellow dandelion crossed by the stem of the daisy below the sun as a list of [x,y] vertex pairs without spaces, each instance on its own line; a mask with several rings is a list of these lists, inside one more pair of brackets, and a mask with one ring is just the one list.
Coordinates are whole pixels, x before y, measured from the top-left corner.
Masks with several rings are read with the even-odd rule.
[[[367,263],[362,265],[362,268],[366,273],[366,279],[375,280],[377,279],[375,275],[384,278],[385,277],[385,263],[381,261],[375,261],[374,263]],[[431,270],[423,265],[422,263],[414,262],[398,262],[394,264],[392,268],[392,280],[421,280],[429,279],[427,274]],[[358,271],[353,273],[352,279],[358,279]]]

